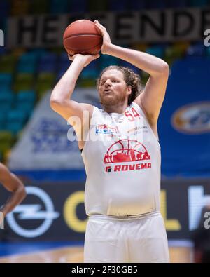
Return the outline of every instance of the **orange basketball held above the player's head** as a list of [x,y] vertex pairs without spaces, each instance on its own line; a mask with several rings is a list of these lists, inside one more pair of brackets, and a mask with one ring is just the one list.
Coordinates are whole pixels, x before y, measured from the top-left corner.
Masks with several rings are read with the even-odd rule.
[[76,20],[65,30],[64,48],[69,55],[96,55],[102,48],[103,37],[94,22],[90,20]]

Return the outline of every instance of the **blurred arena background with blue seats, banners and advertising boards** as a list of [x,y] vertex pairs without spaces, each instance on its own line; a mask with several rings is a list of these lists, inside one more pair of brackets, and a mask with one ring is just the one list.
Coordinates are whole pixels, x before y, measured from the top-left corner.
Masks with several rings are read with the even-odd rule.
[[[0,262],[83,262],[85,169],[77,142],[67,139],[71,126],[49,106],[70,65],[62,35],[83,18],[99,20],[113,43],[168,62],[158,122],[161,212],[172,262],[209,262],[209,0],[0,1],[0,161],[28,194],[0,229]],[[131,67],[142,86],[148,79],[101,55],[80,74],[75,100],[99,107],[95,80],[107,65]],[[1,204],[8,195],[1,186]]]

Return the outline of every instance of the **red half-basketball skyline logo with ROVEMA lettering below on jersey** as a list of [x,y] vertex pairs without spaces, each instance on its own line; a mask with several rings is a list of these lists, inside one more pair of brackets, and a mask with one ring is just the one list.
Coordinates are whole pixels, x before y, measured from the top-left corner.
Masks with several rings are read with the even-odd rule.
[[[127,163],[134,161],[148,161],[151,156],[146,147],[137,140],[118,140],[109,147],[104,155],[104,163]],[[114,171],[151,168],[151,163],[138,163],[134,165],[116,165]],[[106,172],[111,172],[111,166],[106,167]]]

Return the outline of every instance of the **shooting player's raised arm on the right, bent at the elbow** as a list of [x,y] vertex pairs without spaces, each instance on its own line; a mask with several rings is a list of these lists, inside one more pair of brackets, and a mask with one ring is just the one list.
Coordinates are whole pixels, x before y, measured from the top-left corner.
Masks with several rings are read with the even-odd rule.
[[169,66],[167,62],[141,51],[113,45],[109,34],[106,32],[106,28],[97,21],[95,21],[95,25],[100,29],[103,35],[104,43],[102,53],[126,60],[151,75],[146,83],[144,91],[134,102],[137,102],[144,110],[151,126],[157,125],[169,76]]

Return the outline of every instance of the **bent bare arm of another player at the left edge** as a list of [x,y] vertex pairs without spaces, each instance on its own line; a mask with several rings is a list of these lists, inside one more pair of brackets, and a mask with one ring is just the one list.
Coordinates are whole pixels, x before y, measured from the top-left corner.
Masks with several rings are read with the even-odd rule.
[[3,184],[3,187],[12,193],[6,204],[0,208],[1,225],[3,218],[26,197],[26,191],[20,179],[15,174],[10,173],[2,163],[0,163],[0,184]]

